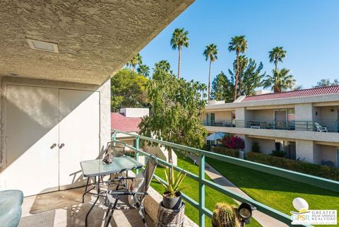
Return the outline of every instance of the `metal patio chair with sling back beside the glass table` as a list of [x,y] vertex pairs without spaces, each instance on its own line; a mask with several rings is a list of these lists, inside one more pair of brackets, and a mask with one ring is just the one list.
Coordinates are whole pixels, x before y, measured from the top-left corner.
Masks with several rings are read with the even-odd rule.
[[[108,209],[105,215],[105,227],[109,226],[109,222],[112,219],[115,209],[137,209],[141,219],[143,219],[143,225],[148,227],[145,219],[145,209],[143,207],[143,202],[145,196],[147,195],[148,187],[150,187],[150,182],[152,181],[155,168],[157,168],[157,158],[155,156],[148,157],[146,168],[142,172],[144,175],[143,188],[139,189],[137,192],[129,190],[107,191],[105,206],[108,206]],[[131,179],[131,177],[126,178]],[[133,197],[133,204],[130,203],[129,197]]]

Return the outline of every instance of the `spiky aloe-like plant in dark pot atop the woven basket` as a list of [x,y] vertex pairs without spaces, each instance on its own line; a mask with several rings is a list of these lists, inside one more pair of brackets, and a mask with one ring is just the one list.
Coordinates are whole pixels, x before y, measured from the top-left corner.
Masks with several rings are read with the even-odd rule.
[[173,165],[171,168],[168,168],[168,174],[166,170],[164,171],[167,185],[162,181],[157,180],[165,188],[165,192],[162,194],[162,206],[167,209],[179,209],[182,205],[182,194],[180,191],[185,188],[180,187],[180,185],[182,180],[184,180],[184,177],[186,177],[186,173],[180,171],[177,176],[175,176]]

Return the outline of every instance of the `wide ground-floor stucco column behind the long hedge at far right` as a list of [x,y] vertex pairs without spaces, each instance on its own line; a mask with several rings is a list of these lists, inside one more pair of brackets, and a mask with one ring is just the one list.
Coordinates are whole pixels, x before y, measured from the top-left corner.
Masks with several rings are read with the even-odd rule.
[[296,140],[296,158],[307,163],[321,163],[319,146],[309,140]]

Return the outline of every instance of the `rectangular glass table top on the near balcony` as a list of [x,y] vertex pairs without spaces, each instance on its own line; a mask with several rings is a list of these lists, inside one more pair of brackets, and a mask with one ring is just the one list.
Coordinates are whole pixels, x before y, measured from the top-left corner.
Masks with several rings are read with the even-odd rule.
[[143,164],[129,156],[114,157],[110,164],[102,163],[102,159],[95,159],[81,161],[80,165],[84,177],[120,173],[126,170],[136,170],[143,167]]

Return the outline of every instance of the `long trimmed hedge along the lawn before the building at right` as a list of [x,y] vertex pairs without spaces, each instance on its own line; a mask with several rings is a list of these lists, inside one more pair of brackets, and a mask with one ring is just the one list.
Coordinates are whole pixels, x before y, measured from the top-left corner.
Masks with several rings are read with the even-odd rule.
[[339,180],[339,169],[329,167],[326,165],[316,165],[313,163],[304,163],[302,161],[295,161],[288,158],[280,158],[270,156],[264,153],[249,152],[246,153],[246,160],[272,165],[278,168],[324,177],[331,180]]

